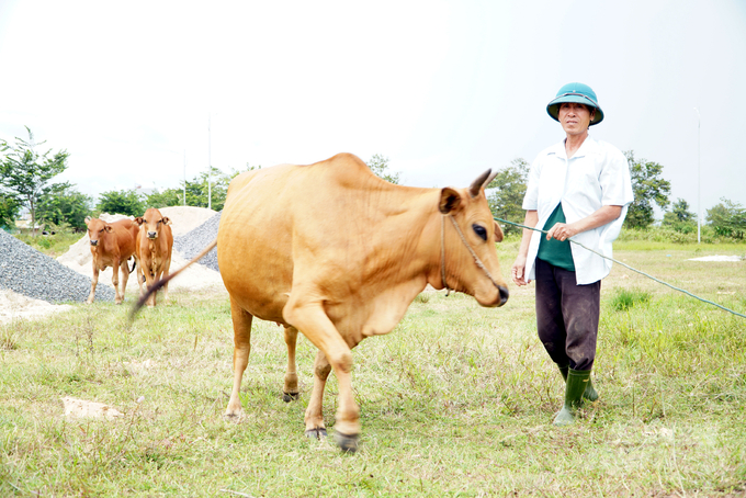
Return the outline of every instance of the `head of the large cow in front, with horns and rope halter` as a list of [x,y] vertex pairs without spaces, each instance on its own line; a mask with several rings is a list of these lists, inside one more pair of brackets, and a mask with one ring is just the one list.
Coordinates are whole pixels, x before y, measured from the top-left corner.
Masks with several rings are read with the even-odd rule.
[[468,189],[447,186],[440,192],[443,286],[474,296],[482,306],[502,306],[509,295],[495,248],[502,230],[485,195],[496,173],[487,170]]

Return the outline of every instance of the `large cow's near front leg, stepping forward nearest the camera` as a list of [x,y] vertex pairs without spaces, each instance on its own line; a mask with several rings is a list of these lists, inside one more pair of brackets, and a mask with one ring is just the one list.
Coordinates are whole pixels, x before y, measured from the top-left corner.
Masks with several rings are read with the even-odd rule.
[[[339,407],[335,421],[335,438],[343,451],[357,451],[360,434],[360,408],[352,394],[350,377],[352,352],[350,346],[339,335],[339,331],[324,312],[321,303],[304,302],[301,292],[291,293],[283,315],[287,322],[302,330],[308,340],[324,352],[334,369],[339,384]],[[315,384],[314,391],[316,391]]]

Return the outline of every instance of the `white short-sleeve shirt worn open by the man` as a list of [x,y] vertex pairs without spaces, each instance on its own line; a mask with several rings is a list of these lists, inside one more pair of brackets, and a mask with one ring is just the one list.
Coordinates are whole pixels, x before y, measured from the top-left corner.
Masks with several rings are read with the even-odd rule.
[[[569,159],[565,140],[539,154],[529,172],[523,208],[536,211],[536,228],[543,228],[560,203],[568,224],[589,216],[602,206],[623,206],[619,218],[572,238],[611,258],[611,242],[619,236],[633,199],[630,167],[624,155],[614,146],[588,136]],[[525,263],[528,280],[535,280],[539,242],[545,236],[539,231],[531,236]],[[570,244],[570,250],[578,285],[597,282],[611,271],[611,261],[576,244]]]

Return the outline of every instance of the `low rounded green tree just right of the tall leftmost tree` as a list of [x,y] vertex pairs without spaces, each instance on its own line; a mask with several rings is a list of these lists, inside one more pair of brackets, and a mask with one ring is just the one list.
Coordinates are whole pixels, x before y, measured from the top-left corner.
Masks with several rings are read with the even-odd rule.
[[91,214],[93,199],[81,194],[69,182],[55,183],[45,189],[36,210],[38,218],[55,225],[84,228]]

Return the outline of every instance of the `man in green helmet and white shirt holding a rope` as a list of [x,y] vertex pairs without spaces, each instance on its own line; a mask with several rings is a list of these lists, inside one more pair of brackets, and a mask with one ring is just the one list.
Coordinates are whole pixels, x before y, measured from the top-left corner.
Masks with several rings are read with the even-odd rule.
[[566,381],[565,405],[554,423],[573,423],[583,398],[595,401],[590,382],[596,359],[601,279],[633,200],[630,169],[615,147],[595,140],[588,127],[603,120],[596,93],[583,83],[565,84],[546,112],[566,138],[542,151],[529,173],[523,199],[525,226],[549,230],[545,237],[523,229],[512,265],[517,285],[536,281],[539,338]]

